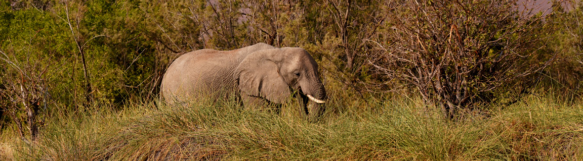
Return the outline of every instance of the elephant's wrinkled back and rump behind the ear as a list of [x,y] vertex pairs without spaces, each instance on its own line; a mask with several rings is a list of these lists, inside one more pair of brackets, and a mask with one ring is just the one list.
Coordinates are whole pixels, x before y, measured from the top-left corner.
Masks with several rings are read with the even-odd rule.
[[167,102],[196,99],[201,96],[224,98],[236,91],[233,72],[250,53],[274,46],[259,43],[233,51],[201,49],[181,55],[166,70],[160,86]]

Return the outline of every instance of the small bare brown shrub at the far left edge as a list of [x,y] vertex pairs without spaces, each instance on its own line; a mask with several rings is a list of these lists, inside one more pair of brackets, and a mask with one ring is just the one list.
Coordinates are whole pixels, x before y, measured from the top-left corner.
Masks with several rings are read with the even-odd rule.
[[[17,132],[23,141],[30,144],[27,135],[32,141],[38,138],[38,128],[42,125],[38,120],[41,110],[47,109],[49,86],[48,78],[55,66],[51,59],[40,61],[39,56],[30,53],[31,46],[20,51],[28,52],[26,58],[18,60],[14,50],[8,54],[0,51],[0,67],[6,71],[0,79],[4,88],[0,89],[0,106],[10,120],[16,123]],[[10,56],[9,56],[10,55]],[[44,59],[44,58],[41,58]]]

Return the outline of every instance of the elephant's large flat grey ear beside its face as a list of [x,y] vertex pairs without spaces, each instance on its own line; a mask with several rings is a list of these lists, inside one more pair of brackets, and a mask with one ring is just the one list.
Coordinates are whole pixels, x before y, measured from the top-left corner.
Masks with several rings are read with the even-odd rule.
[[285,102],[291,92],[279,73],[282,59],[281,49],[256,51],[243,59],[233,74],[241,94]]

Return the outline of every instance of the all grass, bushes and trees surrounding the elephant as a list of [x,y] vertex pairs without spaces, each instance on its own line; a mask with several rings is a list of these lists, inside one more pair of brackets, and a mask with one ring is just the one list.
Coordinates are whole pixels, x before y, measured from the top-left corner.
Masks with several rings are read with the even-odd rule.
[[[583,160],[583,5],[559,3],[2,1],[0,160]],[[314,56],[318,122],[157,100],[182,53],[257,42]]]

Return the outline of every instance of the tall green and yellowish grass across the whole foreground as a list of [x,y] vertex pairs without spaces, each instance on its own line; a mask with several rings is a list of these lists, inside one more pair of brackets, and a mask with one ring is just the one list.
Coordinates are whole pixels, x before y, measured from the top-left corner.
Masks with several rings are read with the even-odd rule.
[[[316,123],[232,101],[54,114],[15,160],[583,160],[581,101],[528,96],[450,121],[418,99],[341,106]],[[3,133],[10,137],[12,133]]]

